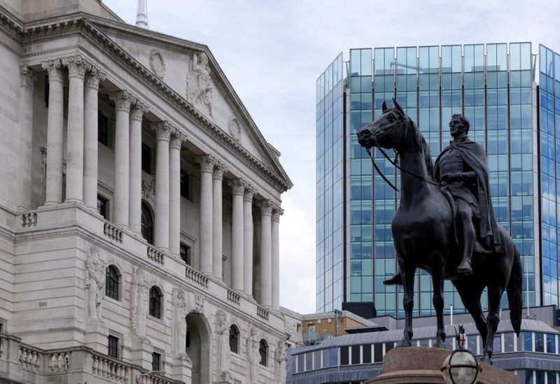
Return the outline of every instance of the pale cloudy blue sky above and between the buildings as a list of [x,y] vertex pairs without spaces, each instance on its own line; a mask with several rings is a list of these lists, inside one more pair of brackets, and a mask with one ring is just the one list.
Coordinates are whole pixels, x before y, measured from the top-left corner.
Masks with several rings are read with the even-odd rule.
[[[104,0],[134,24],[137,0]],[[560,1],[148,0],[149,29],[207,45],[293,181],[280,304],[315,312],[315,82],[350,48],[531,41],[560,51]]]

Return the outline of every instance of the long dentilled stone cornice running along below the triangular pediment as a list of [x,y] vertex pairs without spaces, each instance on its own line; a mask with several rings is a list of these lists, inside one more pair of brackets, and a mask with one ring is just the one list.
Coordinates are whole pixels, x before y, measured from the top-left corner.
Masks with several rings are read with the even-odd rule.
[[[285,192],[293,186],[293,183],[291,183],[287,175],[283,174],[283,177],[281,177],[269,169],[264,163],[260,162],[258,158],[239,145],[239,143],[237,143],[229,134],[214,124],[214,122],[211,122],[204,117],[204,115],[189,104],[186,99],[172,90],[172,88],[168,87],[162,80],[160,80],[160,78],[158,78],[158,76],[155,76],[152,71],[137,62],[134,57],[129,55],[125,50],[120,48],[116,43],[108,38],[102,31],[95,27],[90,20],[87,19],[85,14],[76,13],[73,15],[66,15],[63,18],[50,20],[47,24],[43,21],[42,23],[36,22],[24,27],[22,24],[15,22],[13,18],[7,16],[4,13],[5,11],[6,10],[0,6],[0,28],[13,29],[13,34],[18,36],[23,44],[41,42],[71,34],[82,34],[91,43],[98,45],[99,48],[102,48],[107,55],[115,59],[120,65],[129,71],[132,71],[134,76],[143,80],[146,85],[154,90],[156,94],[165,98],[169,104],[184,113],[193,123],[195,123],[195,125],[198,125],[203,129],[206,128],[209,134],[211,134],[211,136],[213,136],[219,143],[241,157],[246,164],[253,166],[253,168],[259,171],[259,173],[266,176],[266,178],[271,181],[273,185],[276,185],[279,190]],[[232,95],[236,101],[238,101],[235,92]],[[242,104],[239,105],[242,107]],[[255,131],[258,132],[258,130]],[[268,145],[264,139],[262,142],[262,145]],[[272,159],[272,161],[277,163],[276,159]],[[279,164],[276,164],[276,166],[278,166],[279,171],[283,173],[283,171],[280,170],[281,166]]]

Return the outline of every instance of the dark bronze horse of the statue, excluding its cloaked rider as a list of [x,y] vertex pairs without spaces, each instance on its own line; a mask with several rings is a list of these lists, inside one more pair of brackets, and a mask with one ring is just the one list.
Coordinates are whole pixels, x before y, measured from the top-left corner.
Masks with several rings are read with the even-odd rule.
[[[493,339],[498,328],[500,299],[507,287],[510,318],[516,334],[521,327],[521,261],[510,235],[498,226],[502,239],[500,252],[476,250],[472,274],[456,272],[461,249],[456,240],[454,206],[433,178],[433,164],[426,140],[397,101],[358,131],[358,142],[372,147],[392,148],[400,157],[400,204],[391,223],[395,256],[398,261],[404,297],[405,329],[398,346],[411,346],[414,275],[417,268],[432,276],[433,306],[437,318],[435,347],[445,348],[443,324],[443,283],[451,280],[461,301],[475,320],[484,345],[482,360],[491,363]],[[488,315],[484,318],[480,297],[488,287]]]

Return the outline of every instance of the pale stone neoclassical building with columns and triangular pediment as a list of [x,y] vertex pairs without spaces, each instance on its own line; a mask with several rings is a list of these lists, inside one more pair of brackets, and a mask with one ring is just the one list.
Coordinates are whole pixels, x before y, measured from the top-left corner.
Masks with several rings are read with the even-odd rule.
[[283,380],[292,184],[207,46],[0,0],[0,78],[0,382]]

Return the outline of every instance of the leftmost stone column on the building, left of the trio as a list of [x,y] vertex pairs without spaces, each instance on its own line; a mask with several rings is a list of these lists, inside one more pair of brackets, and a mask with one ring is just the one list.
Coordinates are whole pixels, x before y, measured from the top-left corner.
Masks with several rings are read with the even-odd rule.
[[20,211],[31,208],[31,157],[33,138],[33,88],[37,73],[22,66],[20,69],[20,172],[19,174],[19,204]]

